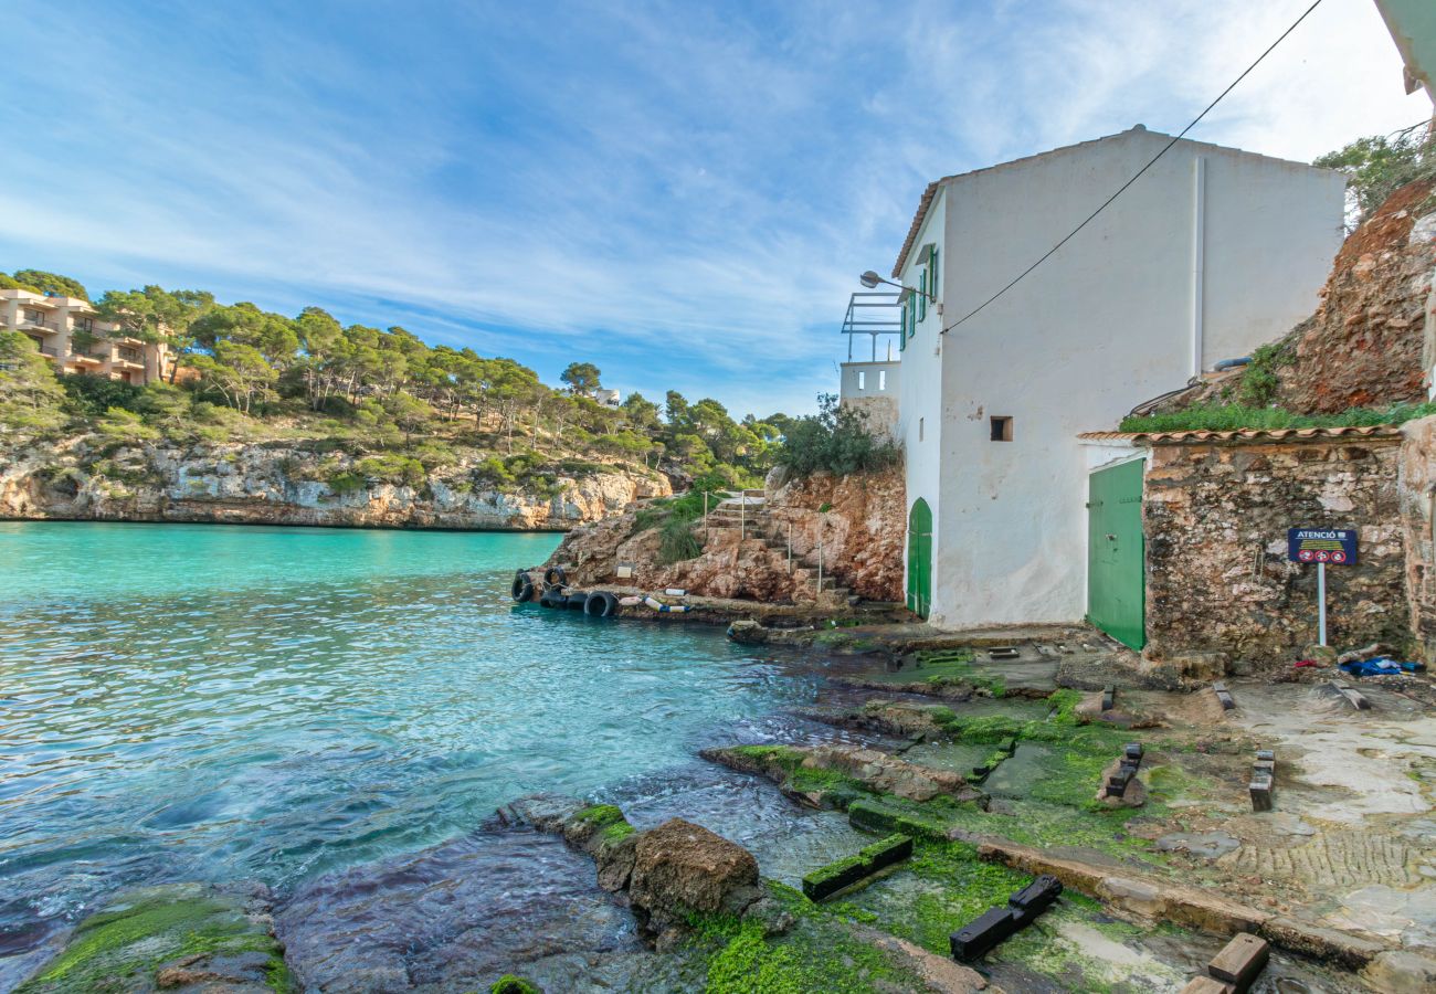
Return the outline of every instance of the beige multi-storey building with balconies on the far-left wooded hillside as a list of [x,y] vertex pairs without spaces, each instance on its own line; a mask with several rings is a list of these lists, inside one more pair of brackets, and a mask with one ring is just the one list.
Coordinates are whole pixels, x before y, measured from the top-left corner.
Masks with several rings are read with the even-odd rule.
[[99,320],[89,300],[0,290],[0,328],[29,335],[62,373],[144,385],[165,373],[164,345],[128,338]]

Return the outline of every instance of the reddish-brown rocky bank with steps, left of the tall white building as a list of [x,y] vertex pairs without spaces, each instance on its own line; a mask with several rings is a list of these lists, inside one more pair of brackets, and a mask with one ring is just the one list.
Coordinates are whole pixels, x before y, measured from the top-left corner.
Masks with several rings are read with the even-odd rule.
[[[714,513],[695,524],[702,552],[663,563],[661,529],[651,508],[574,529],[550,559],[574,586],[622,583],[645,589],[684,587],[711,598],[808,603],[853,593],[869,600],[900,600],[906,497],[902,467],[882,473],[803,480],[770,474],[761,506],[742,524]],[[791,526],[791,529],[790,529]],[[790,554],[791,542],[791,554]],[[823,550],[823,592],[817,550]],[[632,563],[632,577],[617,576]]]

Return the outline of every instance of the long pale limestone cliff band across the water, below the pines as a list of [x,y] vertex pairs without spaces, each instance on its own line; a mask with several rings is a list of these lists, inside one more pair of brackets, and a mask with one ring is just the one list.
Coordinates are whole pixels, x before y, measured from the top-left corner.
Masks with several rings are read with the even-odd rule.
[[422,481],[385,483],[365,475],[362,457],[300,445],[95,435],[0,445],[0,517],[563,530],[672,493],[666,478],[622,465],[557,475],[546,493],[494,486],[480,468],[485,455],[461,452]]

